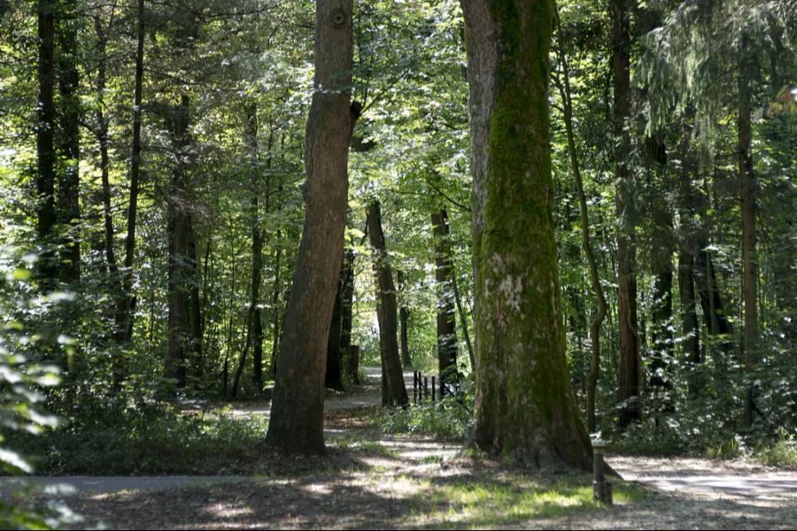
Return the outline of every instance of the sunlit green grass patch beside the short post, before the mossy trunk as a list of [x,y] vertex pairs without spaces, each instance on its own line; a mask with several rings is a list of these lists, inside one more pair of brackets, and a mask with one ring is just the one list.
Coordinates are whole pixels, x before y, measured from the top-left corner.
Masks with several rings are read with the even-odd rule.
[[[429,527],[499,527],[534,519],[557,519],[605,510],[592,499],[588,476],[532,481],[521,475],[501,480],[463,480],[437,485],[416,497],[422,525]],[[641,501],[644,490],[615,482],[615,503]]]

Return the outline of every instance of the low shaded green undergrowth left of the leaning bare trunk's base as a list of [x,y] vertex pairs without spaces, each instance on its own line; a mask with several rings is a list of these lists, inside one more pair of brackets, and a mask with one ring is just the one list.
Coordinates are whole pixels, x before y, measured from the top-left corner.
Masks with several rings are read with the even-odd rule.
[[116,405],[67,419],[27,441],[40,473],[240,473],[266,434],[267,420],[228,412],[184,412],[174,404]]

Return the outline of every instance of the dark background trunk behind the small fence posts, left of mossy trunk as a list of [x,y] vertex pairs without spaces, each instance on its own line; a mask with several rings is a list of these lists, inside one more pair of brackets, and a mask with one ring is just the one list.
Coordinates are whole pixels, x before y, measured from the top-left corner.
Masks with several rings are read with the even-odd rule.
[[437,288],[437,366],[440,380],[457,381],[457,329],[454,296],[451,287],[451,242],[448,241],[448,214],[445,209],[432,212],[435,236],[435,281]]

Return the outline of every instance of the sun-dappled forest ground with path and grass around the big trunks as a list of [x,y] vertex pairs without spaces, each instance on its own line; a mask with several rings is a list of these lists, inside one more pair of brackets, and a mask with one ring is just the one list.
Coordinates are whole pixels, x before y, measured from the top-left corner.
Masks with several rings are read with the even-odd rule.
[[[410,373],[410,383],[412,374]],[[323,458],[263,446],[250,476],[28,479],[75,514],[74,528],[797,528],[797,471],[741,461],[610,457],[615,505],[591,477],[470,458],[456,443],[383,435],[379,387],[328,396]],[[239,417],[267,404],[237,404]],[[58,487],[60,485],[60,487]],[[0,481],[0,495],[10,487]],[[5,496],[2,496],[5,497]]]

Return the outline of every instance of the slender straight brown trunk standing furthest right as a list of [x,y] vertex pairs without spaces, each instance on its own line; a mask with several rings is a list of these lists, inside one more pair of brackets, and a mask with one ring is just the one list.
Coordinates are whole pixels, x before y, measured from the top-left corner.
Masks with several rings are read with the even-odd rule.
[[756,364],[758,342],[758,260],[755,256],[755,202],[758,189],[753,171],[753,158],[750,153],[753,140],[751,125],[750,80],[752,79],[753,59],[747,51],[749,37],[741,36],[741,56],[739,57],[739,117],[737,121],[739,149],[739,183],[741,184],[741,224],[742,224],[742,300],[745,305],[744,335],[742,350],[745,360],[744,423],[753,426],[753,372]]

